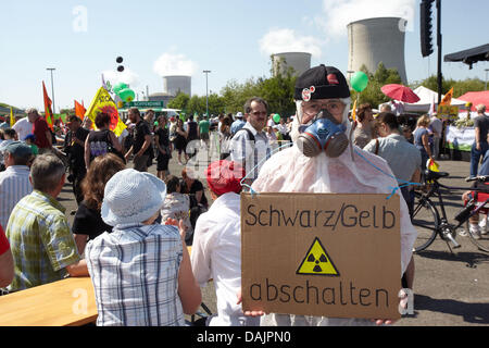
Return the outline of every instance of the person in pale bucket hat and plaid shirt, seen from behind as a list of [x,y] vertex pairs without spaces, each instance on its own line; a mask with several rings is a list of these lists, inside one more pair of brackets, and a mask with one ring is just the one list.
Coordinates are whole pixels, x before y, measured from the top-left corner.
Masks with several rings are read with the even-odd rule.
[[184,325],[201,293],[179,222],[155,224],[166,195],[156,176],[133,169],[105,185],[102,220],[114,226],[87,245],[99,326]]

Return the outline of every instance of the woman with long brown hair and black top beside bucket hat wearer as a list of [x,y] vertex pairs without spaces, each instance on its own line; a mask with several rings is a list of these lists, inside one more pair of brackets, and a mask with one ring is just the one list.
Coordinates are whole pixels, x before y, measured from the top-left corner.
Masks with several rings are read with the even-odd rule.
[[84,201],[76,211],[72,227],[79,254],[84,253],[88,240],[95,239],[105,231],[112,232],[112,226],[105,224],[101,217],[103,192],[109,179],[125,169],[124,162],[113,153],[99,156],[90,163],[82,182]]

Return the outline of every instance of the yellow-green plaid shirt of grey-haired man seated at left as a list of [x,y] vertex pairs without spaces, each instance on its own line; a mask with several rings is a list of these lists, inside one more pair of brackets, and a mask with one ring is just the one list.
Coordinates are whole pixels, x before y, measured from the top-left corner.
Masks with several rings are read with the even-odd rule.
[[65,268],[80,260],[64,211],[54,198],[38,190],[15,206],[7,226],[15,263],[9,290],[60,281]]

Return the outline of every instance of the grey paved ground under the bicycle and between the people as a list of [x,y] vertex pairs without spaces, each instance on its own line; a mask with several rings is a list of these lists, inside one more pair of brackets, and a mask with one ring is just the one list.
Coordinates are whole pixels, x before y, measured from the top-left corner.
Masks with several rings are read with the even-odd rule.
[[[468,163],[461,161],[439,161],[440,170],[451,176],[442,179],[450,186],[467,186],[463,178],[468,174]],[[171,161],[171,172],[181,175],[183,166],[176,156]],[[155,174],[155,165],[150,167]],[[202,179],[205,184],[205,181]],[[447,192],[448,215],[461,208],[461,194]],[[212,201],[209,192],[208,199]],[[61,202],[70,211],[76,209],[71,185],[66,184],[60,196]],[[489,325],[489,254],[478,251],[468,239],[457,237],[462,248],[451,253],[447,244],[436,240],[428,250],[415,254],[415,298],[414,314],[399,321],[398,326],[467,326]],[[215,311],[215,295],[212,283],[203,289],[204,302]]]

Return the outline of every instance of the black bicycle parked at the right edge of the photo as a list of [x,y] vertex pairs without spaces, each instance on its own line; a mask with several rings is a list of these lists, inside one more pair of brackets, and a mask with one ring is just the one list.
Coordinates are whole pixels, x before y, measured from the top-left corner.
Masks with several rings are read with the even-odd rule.
[[[450,224],[447,219],[447,211],[444,209],[440,188],[446,188],[449,190],[469,190],[476,192],[482,192],[485,191],[485,189],[473,187],[453,187],[440,184],[438,182],[440,178],[448,176],[450,176],[450,174],[446,172],[431,172],[427,170],[425,172],[425,182],[430,183],[428,185],[427,192],[415,191],[415,204],[413,210],[412,223],[417,229],[417,238],[413,247],[413,252],[419,252],[428,248],[435,241],[437,236],[444,240],[450,251],[453,252],[450,245],[452,245],[454,249],[461,247],[461,245],[455,240],[456,229],[460,228],[464,223],[466,224],[466,231],[471,241],[479,250],[489,252],[489,234],[481,235],[480,237],[475,236],[471,232],[468,225],[468,220],[471,216],[478,212],[487,213],[489,211],[489,197],[485,201],[477,201],[477,195],[474,195],[476,197],[472,198],[471,201],[466,203],[465,208],[454,216],[456,224]],[[471,181],[476,179],[481,183],[489,182],[489,175],[478,176]],[[435,203],[431,201],[431,197],[438,197],[441,215]]]

